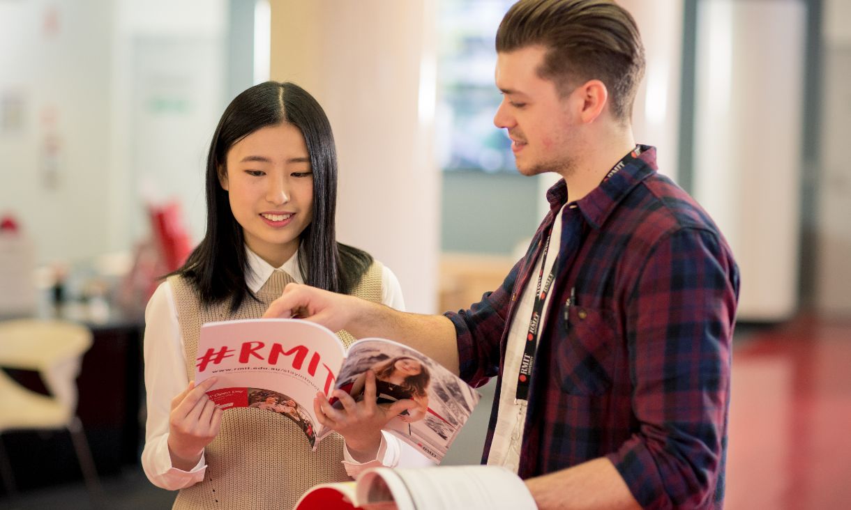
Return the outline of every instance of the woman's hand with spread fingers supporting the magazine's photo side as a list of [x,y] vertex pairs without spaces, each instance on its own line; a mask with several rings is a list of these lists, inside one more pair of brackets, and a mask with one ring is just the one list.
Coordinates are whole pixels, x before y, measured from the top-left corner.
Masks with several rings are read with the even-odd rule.
[[346,447],[357,462],[369,462],[375,459],[381,444],[381,428],[400,412],[418,406],[414,400],[397,400],[392,404],[379,405],[375,402],[375,372],[366,372],[366,384],[363,388],[363,400],[356,402],[341,389],[334,389],[332,397],[340,400],[343,409],[337,409],[328,402],[325,395],[318,393],[313,399],[313,410],[317,419],[346,439]]

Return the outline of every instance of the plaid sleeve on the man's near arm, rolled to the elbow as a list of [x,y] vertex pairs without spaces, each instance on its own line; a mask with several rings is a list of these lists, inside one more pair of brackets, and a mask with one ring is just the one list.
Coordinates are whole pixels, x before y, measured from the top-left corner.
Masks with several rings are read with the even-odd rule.
[[712,507],[723,483],[738,278],[717,234],[679,229],[654,247],[629,295],[640,425],[608,458],[643,507]]

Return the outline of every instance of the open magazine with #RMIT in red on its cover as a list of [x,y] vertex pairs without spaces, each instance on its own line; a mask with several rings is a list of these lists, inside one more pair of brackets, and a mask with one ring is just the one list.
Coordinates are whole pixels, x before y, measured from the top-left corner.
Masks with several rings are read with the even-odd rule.
[[440,462],[480,396],[401,343],[363,338],[346,350],[328,328],[306,320],[208,322],[198,337],[195,381],[217,377],[207,394],[221,409],[254,407],[286,416],[316,450],[317,442],[332,431],[317,421],[313,398],[317,392],[328,396],[334,388],[362,397],[370,369],[379,403],[412,399],[417,404],[385,430]]

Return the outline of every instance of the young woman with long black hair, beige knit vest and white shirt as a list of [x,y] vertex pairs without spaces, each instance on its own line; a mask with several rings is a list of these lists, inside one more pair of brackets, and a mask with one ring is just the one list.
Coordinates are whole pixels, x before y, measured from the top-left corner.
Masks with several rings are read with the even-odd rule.
[[314,452],[286,416],[223,412],[204,393],[212,380],[190,382],[200,326],[262,316],[290,280],[403,308],[389,269],[335,241],[336,186],[328,117],[305,90],[266,82],[228,105],[208,155],[206,235],[146,309],[142,465],[153,484],[180,489],[175,508],[291,508],[315,484],[397,462],[397,439],[376,438],[380,413],[350,416],[347,449],[334,434]]

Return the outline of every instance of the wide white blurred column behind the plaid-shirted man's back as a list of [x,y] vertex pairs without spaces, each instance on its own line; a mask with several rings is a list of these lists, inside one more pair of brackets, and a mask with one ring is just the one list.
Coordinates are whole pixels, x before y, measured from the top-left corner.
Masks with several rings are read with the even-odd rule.
[[704,0],[697,14],[693,195],[739,264],[739,319],[790,319],[801,268],[807,6]]

